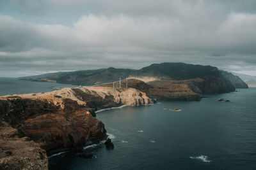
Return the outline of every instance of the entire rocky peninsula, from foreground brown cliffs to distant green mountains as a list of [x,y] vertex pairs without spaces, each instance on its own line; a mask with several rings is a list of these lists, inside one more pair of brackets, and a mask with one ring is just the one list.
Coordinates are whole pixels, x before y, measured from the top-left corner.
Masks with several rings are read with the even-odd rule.
[[97,110],[151,104],[156,98],[200,101],[200,94],[234,92],[237,82],[243,83],[217,67],[184,63],[49,73],[20,80],[93,86],[0,97],[1,169],[47,169],[49,151],[79,150],[106,139],[104,124],[95,118]]

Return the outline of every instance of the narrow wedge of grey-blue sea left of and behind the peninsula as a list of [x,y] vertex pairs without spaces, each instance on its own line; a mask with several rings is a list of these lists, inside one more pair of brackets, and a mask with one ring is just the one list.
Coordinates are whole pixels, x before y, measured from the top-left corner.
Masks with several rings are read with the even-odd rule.
[[77,87],[76,85],[65,85],[52,82],[38,82],[18,80],[17,78],[2,78],[0,77],[0,96],[8,94],[25,94],[51,92],[64,87]]

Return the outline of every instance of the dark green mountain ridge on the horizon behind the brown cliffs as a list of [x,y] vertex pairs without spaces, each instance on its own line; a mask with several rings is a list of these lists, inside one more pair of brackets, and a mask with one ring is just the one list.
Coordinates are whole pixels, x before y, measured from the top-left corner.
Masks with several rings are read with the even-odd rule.
[[[234,76],[234,75],[233,75]],[[38,76],[21,77],[20,80],[30,81],[56,81],[57,83],[67,83],[72,85],[100,85],[110,83],[125,78],[138,79],[143,77],[158,78],[161,80],[189,80],[191,88],[195,92],[232,92],[235,90],[234,82],[223,76],[223,73],[212,66],[202,66],[185,64],[182,62],[164,62],[161,64],[151,64],[141,69],[116,69],[109,67],[106,69],[58,72],[41,74]],[[232,77],[232,75],[231,75]]]

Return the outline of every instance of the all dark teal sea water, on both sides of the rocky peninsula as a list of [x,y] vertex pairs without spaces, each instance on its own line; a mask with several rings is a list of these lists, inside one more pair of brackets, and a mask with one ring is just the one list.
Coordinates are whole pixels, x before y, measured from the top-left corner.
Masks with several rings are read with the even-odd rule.
[[[0,94],[46,92],[52,86],[67,87],[1,78]],[[256,169],[256,89],[203,96],[101,110],[97,118],[115,148],[107,150],[104,141],[84,147],[92,159],[72,152],[49,155],[49,169]]]

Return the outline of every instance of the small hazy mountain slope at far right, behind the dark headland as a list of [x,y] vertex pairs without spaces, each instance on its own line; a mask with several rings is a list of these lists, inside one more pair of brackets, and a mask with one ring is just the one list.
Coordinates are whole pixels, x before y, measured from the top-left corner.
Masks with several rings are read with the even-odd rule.
[[244,83],[244,81],[241,80],[239,76],[235,76],[234,74],[228,73],[227,71],[223,70],[221,70],[221,73],[225,78],[227,78],[227,80],[229,80],[234,85],[234,87],[239,89],[248,89],[248,85]]

